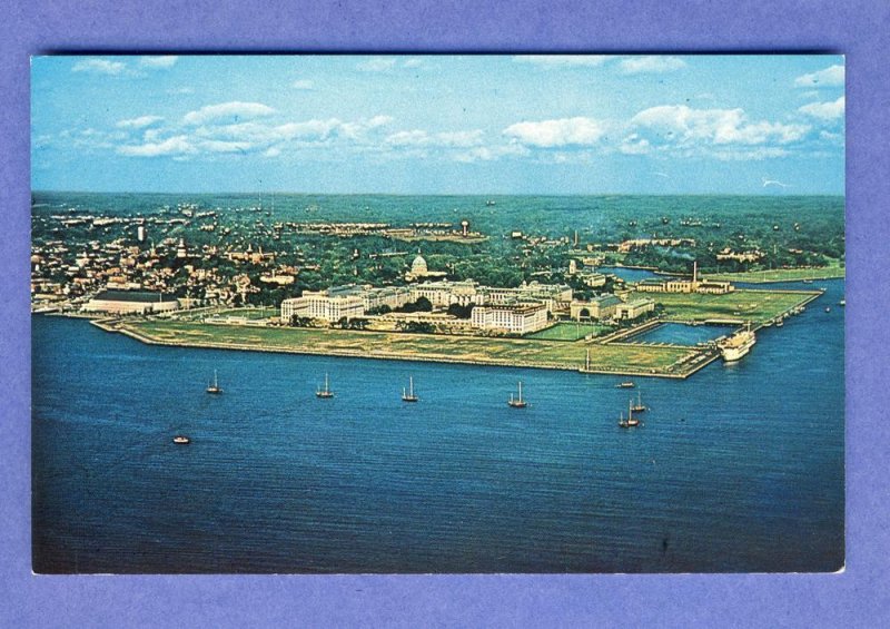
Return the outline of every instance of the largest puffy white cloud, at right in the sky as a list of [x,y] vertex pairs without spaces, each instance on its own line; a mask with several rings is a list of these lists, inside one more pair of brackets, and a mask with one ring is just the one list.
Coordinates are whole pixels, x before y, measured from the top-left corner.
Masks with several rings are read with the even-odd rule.
[[789,144],[810,129],[805,125],[750,121],[742,109],[692,109],[685,105],[644,109],[631,119],[631,127],[652,144],[674,146]]

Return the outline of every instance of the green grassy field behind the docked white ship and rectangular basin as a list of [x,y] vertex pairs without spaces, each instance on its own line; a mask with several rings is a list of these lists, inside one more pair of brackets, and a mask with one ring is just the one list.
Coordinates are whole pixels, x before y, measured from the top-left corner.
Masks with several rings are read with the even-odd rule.
[[670,321],[722,318],[761,323],[788,312],[812,295],[803,291],[734,291],[725,295],[659,293],[652,298],[664,305],[665,318]]

